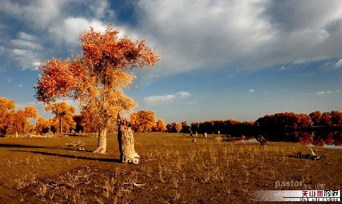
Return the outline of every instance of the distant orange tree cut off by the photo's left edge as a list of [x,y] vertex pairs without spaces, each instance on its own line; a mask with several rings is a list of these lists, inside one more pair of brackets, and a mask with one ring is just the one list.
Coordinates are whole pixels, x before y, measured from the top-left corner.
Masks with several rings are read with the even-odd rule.
[[5,135],[10,125],[10,112],[14,111],[14,101],[0,98],[0,135]]

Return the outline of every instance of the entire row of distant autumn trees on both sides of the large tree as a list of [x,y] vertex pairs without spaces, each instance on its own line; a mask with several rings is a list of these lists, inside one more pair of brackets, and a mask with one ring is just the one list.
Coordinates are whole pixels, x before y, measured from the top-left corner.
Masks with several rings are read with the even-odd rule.
[[[92,124],[91,117],[81,112],[75,114],[75,107],[62,101],[59,103],[50,103],[45,107],[46,111],[52,112],[55,116],[51,119],[45,119],[38,116],[35,107],[27,106],[23,109],[15,110],[13,100],[0,98],[0,133],[27,133],[36,131],[36,133],[59,132],[66,133],[77,132],[96,132],[97,127]],[[29,123],[30,119],[36,120],[36,125]],[[210,120],[205,122],[187,121],[181,123],[166,124],[160,118],[156,120],[155,113],[149,110],[133,112],[130,118],[130,125],[133,131],[147,132],[182,132],[189,133],[239,133],[248,134],[255,131],[297,131],[306,127],[342,127],[342,112],[312,112],[311,114],[296,114],[293,112],[278,113],[266,115],[255,122],[241,122],[239,120]],[[110,131],[110,130],[109,130]]]

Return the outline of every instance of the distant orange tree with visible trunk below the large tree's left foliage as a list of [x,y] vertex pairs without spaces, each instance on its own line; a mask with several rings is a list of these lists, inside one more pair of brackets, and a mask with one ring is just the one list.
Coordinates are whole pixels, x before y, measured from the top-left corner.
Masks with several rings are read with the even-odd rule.
[[70,127],[75,127],[76,123],[73,120],[73,113],[75,113],[76,108],[73,105],[69,106],[64,101],[59,103],[50,103],[47,105],[47,107],[45,107],[45,110],[51,111],[53,114],[55,114],[53,122],[60,130],[60,133],[67,131]]

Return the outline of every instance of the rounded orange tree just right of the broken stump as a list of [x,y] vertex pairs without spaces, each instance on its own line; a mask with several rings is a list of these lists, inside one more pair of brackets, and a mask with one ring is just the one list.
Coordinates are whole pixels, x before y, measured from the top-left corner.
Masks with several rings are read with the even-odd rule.
[[131,114],[131,127],[134,131],[146,132],[155,126],[155,112],[140,110]]

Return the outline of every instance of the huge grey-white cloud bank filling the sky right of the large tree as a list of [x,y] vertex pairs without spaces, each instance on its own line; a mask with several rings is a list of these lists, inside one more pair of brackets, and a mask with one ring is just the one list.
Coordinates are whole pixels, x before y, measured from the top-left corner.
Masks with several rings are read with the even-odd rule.
[[161,55],[155,69],[159,75],[208,67],[258,69],[341,56],[342,1],[282,4],[141,0],[136,31]]

